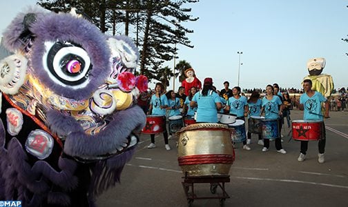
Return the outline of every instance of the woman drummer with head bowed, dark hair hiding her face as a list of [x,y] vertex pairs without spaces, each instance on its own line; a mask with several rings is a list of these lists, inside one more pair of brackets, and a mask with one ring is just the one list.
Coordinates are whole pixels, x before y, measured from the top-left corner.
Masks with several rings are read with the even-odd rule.
[[[248,106],[249,106],[249,116],[260,116],[261,108],[262,108],[262,101],[260,99],[260,93],[258,91],[253,91],[251,93],[250,98],[248,99]],[[251,117],[249,117],[251,119]],[[251,123],[251,121],[248,121],[248,123]],[[250,129],[250,125],[249,125]],[[247,144],[251,143],[251,132],[248,130],[247,132]],[[258,133],[258,144],[264,145],[264,142],[262,141],[261,133]]]

